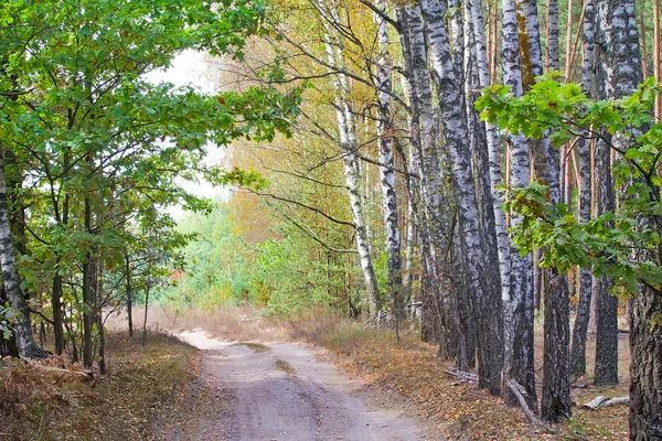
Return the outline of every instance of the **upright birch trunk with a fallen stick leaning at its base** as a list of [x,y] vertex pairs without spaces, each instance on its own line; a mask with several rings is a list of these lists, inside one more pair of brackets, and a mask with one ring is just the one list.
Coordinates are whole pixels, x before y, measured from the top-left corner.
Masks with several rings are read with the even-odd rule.
[[[503,82],[512,87],[516,96],[522,96],[521,51],[514,0],[504,0],[502,9]],[[512,135],[510,141],[510,185],[513,187],[526,186],[531,175],[528,141],[521,133]],[[521,216],[511,215],[512,226],[516,226],[521,222]],[[511,249],[510,277],[510,303],[505,308],[511,320],[511,327],[505,335],[508,340],[503,384],[509,379],[514,379],[521,384],[526,390],[526,404],[536,411],[537,398],[533,365],[533,263],[531,255],[523,257],[516,248]],[[510,390],[504,398],[511,405],[516,404],[516,397]]]

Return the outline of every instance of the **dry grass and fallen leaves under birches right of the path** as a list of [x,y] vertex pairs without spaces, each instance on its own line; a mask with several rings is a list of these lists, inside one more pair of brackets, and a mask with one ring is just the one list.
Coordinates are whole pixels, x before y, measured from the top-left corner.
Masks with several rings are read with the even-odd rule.
[[[460,384],[444,373],[450,363],[439,362],[437,347],[421,343],[415,334],[397,344],[395,335],[383,330],[343,322],[317,341],[331,349],[335,363],[369,386],[397,391],[413,402],[423,418],[433,422],[439,437],[448,440],[626,440],[627,407],[596,411],[574,407],[574,417],[555,427],[555,434],[532,427],[519,408],[503,405],[473,385]],[[573,389],[573,401],[584,404],[598,395],[617,397],[627,392],[629,351],[627,336],[619,342],[621,384],[611,388]],[[542,354],[542,338],[536,338]],[[588,369],[592,370],[595,341],[587,345]],[[542,357],[536,361],[542,373]],[[542,378],[538,378],[538,387]]]

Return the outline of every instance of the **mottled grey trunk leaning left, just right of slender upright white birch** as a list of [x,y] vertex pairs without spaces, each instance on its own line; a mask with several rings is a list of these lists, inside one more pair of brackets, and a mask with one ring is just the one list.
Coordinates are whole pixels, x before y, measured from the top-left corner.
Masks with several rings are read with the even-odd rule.
[[[449,283],[445,271],[451,266],[451,246],[449,237],[452,237],[451,213],[448,204],[444,204],[444,192],[448,185],[441,179],[440,157],[437,147],[437,121],[433,107],[433,88],[430,73],[428,69],[428,55],[426,47],[425,24],[419,6],[405,7],[398,10],[398,20],[403,26],[403,50],[409,75],[408,80],[413,90],[417,123],[414,126],[414,137],[417,150],[421,209],[419,211],[419,236],[421,241],[423,271],[421,286],[424,287],[424,327],[426,337],[435,343],[444,345],[448,343],[445,336],[448,332],[460,333],[456,342],[471,342],[473,336],[463,335],[465,330],[473,322],[472,306],[460,303],[458,291],[451,291],[449,287],[457,289],[458,284]],[[407,56],[408,55],[408,56]],[[455,297],[455,298],[452,298]],[[461,320],[468,322],[456,325],[456,318],[460,306],[465,313]],[[435,315],[437,314],[437,315]],[[447,329],[453,323],[451,329]],[[469,344],[469,343],[468,343]],[[470,345],[470,344],[469,344]],[[440,347],[441,349],[441,347]],[[459,353],[456,347],[450,351],[448,346],[444,354]],[[469,365],[472,357],[469,356]]]

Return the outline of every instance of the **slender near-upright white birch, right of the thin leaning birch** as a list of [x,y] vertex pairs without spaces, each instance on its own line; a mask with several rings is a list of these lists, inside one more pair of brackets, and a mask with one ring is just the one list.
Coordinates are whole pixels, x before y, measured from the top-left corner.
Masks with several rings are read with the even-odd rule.
[[[386,13],[386,2],[380,8]],[[401,262],[401,237],[398,227],[397,197],[395,192],[395,163],[393,159],[393,130],[391,127],[391,54],[388,53],[388,29],[386,21],[375,14],[377,39],[380,41],[380,61],[377,63],[376,83],[378,95],[377,138],[380,143],[380,174],[382,181],[384,226],[386,229],[386,252],[388,265],[388,294],[391,310],[396,321],[396,331],[405,319],[403,292],[403,275]]]

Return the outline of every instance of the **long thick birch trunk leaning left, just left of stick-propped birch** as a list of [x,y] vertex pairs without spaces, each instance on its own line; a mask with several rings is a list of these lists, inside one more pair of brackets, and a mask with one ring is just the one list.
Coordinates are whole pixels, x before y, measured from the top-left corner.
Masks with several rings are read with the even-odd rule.
[[[467,119],[462,84],[452,64],[448,25],[445,20],[448,6],[444,0],[423,0],[421,9],[429,30],[429,50],[433,69],[438,79],[441,125],[445,147],[450,159],[458,202],[459,230],[462,235],[462,255],[466,259],[467,280],[474,295],[478,316],[479,386],[491,394],[500,394],[500,372],[503,366],[501,293],[489,283],[498,277],[495,263],[487,259],[485,239],[481,234],[478,201],[471,172],[471,157],[466,143]],[[494,263],[494,265],[492,265]]]

